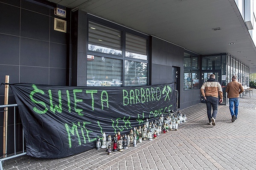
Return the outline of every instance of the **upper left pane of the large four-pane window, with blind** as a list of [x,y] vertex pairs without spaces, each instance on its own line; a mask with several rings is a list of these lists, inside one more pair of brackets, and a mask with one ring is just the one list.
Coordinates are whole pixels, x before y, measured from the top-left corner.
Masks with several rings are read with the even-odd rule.
[[88,50],[122,55],[122,32],[89,21]]

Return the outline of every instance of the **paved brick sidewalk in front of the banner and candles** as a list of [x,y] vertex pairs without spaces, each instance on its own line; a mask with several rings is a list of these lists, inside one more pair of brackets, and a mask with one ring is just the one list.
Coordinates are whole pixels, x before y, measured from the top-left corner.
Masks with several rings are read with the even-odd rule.
[[[256,94],[256,90],[255,93]],[[178,131],[107,155],[92,149],[62,159],[21,156],[3,163],[5,170],[255,170],[256,95],[240,98],[231,122],[229,105],[219,105],[216,125],[207,125],[206,105],[181,110],[188,122]]]

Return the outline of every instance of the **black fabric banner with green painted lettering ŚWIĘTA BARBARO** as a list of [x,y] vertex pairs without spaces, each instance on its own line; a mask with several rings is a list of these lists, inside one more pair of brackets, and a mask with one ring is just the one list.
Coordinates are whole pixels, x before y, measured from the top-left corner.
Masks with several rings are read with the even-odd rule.
[[62,158],[96,147],[97,138],[176,110],[174,83],[136,87],[13,84],[27,155]]

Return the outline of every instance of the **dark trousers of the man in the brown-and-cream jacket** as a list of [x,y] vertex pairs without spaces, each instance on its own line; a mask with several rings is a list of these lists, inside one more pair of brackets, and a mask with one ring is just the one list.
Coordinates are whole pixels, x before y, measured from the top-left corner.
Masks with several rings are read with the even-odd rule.
[[217,111],[218,111],[218,98],[212,96],[206,96],[206,107],[207,107],[207,116],[209,122],[212,122],[212,117],[216,119]]

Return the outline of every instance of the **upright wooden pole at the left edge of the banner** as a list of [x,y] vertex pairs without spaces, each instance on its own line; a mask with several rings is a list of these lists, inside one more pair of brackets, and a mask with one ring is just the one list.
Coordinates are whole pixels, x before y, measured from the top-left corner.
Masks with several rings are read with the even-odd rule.
[[[9,83],[9,76],[6,75],[5,83]],[[9,85],[5,85],[4,105],[8,105]],[[8,125],[8,108],[4,108],[3,115],[3,158],[7,157],[7,125]]]

